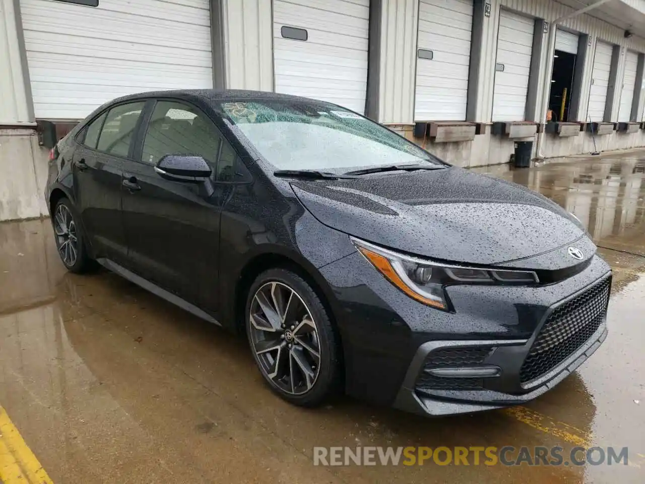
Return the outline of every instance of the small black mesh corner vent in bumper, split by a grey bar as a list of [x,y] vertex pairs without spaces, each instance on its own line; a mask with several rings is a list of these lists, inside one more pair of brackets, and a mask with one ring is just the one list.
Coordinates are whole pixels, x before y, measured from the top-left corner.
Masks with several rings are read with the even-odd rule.
[[[484,363],[493,347],[441,348],[428,354],[423,370],[448,367],[472,367]],[[417,390],[478,390],[481,378],[444,378],[422,371],[417,379]]]

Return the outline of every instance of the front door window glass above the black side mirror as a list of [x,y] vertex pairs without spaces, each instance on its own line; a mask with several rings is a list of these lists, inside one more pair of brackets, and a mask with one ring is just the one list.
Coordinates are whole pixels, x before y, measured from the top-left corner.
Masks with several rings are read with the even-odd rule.
[[167,154],[203,157],[213,171],[222,139],[212,121],[200,110],[174,101],[159,101],[143,141],[141,161],[156,165]]

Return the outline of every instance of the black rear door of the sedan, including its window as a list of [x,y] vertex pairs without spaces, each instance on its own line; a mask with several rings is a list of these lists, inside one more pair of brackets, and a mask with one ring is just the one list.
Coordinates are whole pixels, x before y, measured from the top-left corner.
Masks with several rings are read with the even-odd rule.
[[144,101],[125,103],[96,117],[81,134],[72,159],[76,206],[95,255],[117,263],[127,255],[121,178],[143,106]]

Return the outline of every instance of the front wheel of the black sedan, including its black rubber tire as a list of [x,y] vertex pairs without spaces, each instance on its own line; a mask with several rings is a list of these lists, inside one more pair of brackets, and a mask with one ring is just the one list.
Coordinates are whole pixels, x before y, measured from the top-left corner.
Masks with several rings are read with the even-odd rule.
[[246,301],[246,334],[262,376],[281,398],[313,407],[337,390],[339,338],[302,277],[275,268],[255,279]]

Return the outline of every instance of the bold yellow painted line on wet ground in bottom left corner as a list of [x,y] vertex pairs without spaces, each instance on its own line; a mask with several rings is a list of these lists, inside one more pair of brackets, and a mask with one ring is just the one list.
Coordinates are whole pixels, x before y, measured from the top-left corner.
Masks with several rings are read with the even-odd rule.
[[3,484],[54,484],[3,407],[0,407],[0,481]]

